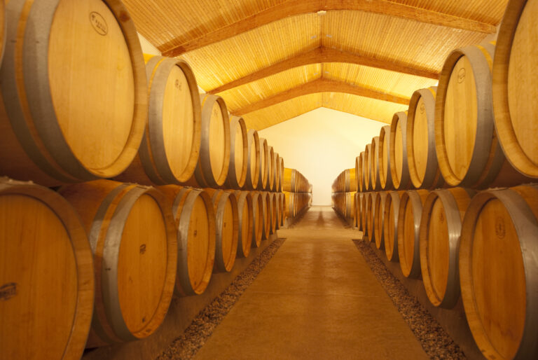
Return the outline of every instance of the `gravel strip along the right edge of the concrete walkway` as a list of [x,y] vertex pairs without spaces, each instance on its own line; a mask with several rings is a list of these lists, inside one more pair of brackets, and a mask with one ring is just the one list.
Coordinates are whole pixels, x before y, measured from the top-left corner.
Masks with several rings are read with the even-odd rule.
[[361,251],[366,263],[380,282],[387,295],[396,305],[401,317],[406,321],[422,349],[431,359],[466,359],[459,346],[450,338],[439,323],[415,298],[405,286],[392,275],[385,264],[378,258],[368,242],[353,240]]

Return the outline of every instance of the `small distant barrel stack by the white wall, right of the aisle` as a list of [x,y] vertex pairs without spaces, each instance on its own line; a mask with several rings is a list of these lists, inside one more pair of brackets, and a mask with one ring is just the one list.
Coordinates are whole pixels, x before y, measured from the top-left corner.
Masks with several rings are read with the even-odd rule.
[[357,226],[357,172],[354,168],[345,169],[336,176],[332,200],[336,212]]

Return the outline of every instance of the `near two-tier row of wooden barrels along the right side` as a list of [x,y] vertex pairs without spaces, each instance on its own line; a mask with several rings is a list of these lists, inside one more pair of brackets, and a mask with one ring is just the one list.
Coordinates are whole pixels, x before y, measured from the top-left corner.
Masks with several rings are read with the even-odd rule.
[[450,53],[355,163],[364,238],[432,304],[461,298],[489,359],[538,358],[537,11],[510,1],[497,46]]

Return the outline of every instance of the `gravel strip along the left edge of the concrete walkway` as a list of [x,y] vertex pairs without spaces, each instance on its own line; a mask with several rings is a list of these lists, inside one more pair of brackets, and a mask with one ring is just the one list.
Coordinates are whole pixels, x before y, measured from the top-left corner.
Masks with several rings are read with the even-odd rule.
[[240,275],[237,275],[228,289],[207,305],[193,319],[184,333],[174,340],[162,354],[157,356],[156,360],[192,359],[211,336],[216,326],[226,317],[235,302],[239,300],[242,293],[254,282],[256,276],[284,244],[284,241],[286,239],[277,239],[265,248]]

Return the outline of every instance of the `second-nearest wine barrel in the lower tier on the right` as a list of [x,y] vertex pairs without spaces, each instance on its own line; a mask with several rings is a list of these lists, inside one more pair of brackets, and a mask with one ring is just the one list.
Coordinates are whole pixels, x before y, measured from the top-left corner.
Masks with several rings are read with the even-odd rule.
[[429,301],[450,309],[460,299],[457,251],[465,211],[476,192],[450,188],[429,193],[420,219],[420,268]]

